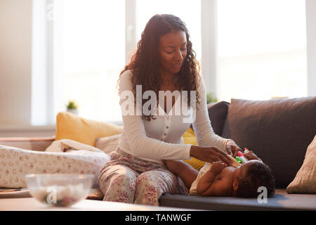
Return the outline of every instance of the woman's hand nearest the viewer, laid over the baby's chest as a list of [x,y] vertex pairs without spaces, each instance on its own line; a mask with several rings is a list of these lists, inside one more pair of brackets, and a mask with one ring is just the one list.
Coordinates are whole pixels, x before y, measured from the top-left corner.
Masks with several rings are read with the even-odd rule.
[[190,156],[205,162],[220,161],[227,165],[232,164],[232,160],[230,160],[227,153],[224,153],[222,150],[215,147],[191,146]]

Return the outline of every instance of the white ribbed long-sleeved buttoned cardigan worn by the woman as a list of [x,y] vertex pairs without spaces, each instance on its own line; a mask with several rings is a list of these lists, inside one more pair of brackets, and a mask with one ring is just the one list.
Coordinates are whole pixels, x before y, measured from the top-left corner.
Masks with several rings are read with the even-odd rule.
[[[119,94],[122,91],[132,91],[131,77],[132,72],[130,70],[125,71],[121,75],[119,79]],[[206,105],[206,89],[203,79],[200,80],[202,82],[200,85],[202,89],[199,90],[201,91],[201,103],[196,105],[199,110],[196,110],[195,121],[192,122],[197,143],[199,146],[215,146],[226,152],[225,145],[229,139],[223,139],[213,132]],[[120,101],[121,110],[125,110],[126,104],[122,104],[122,99]],[[180,99],[182,98],[176,98],[176,103]],[[184,132],[190,127],[190,123],[183,122],[187,114],[183,115],[183,112],[181,112],[180,115],[176,115],[174,109],[176,103],[171,110],[167,108],[168,114],[166,114],[159,101],[157,115],[154,116],[156,120],[151,120],[150,122],[143,120],[141,115],[124,115],[122,113],[124,129],[119,139],[119,148],[133,156],[152,162],[190,160],[190,148],[192,145],[184,144],[182,138]],[[136,112],[136,104],[133,104],[133,108],[134,112]],[[139,109],[141,109],[141,106]]]

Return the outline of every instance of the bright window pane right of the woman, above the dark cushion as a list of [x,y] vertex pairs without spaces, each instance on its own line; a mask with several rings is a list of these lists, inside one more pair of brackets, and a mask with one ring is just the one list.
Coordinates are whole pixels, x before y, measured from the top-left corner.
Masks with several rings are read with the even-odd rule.
[[307,96],[305,1],[220,0],[218,99]]

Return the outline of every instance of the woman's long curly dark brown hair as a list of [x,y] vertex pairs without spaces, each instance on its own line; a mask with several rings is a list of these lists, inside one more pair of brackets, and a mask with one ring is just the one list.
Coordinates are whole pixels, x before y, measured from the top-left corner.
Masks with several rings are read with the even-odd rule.
[[[175,15],[162,14],[154,15],[147,22],[145,30],[141,34],[141,39],[137,44],[137,51],[131,57],[124,70],[121,71],[119,77],[126,70],[133,72],[132,84],[133,94],[136,96],[136,85],[142,85],[142,91],[152,90],[158,96],[159,89],[162,84],[162,77],[160,75],[160,57],[159,57],[159,39],[164,34],[170,32],[184,31],[187,38],[187,56],[183,61],[183,65],[175,75],[177,87],[180,90],[187,91],[188,105],[190,106],[190,91],[197,91],[199,88],[199,63],[195,56],[196,53],[192,49],[192,42],[190,41],[190,34],[185,23]],[[119,81],[118,81],[119,82]],[[196,92],[196,102],[199,103],[199,94]],[[143,104],[146,100],[143,99]],[[150,121],[153,115],[143,115],[143,119]]]

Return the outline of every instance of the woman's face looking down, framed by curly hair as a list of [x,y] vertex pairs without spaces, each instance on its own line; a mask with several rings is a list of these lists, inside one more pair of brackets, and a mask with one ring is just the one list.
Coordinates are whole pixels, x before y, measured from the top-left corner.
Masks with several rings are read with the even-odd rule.
[[159,39],[162,72],[176,74],[187,56],[187,37],[184,31],[164,34]]

